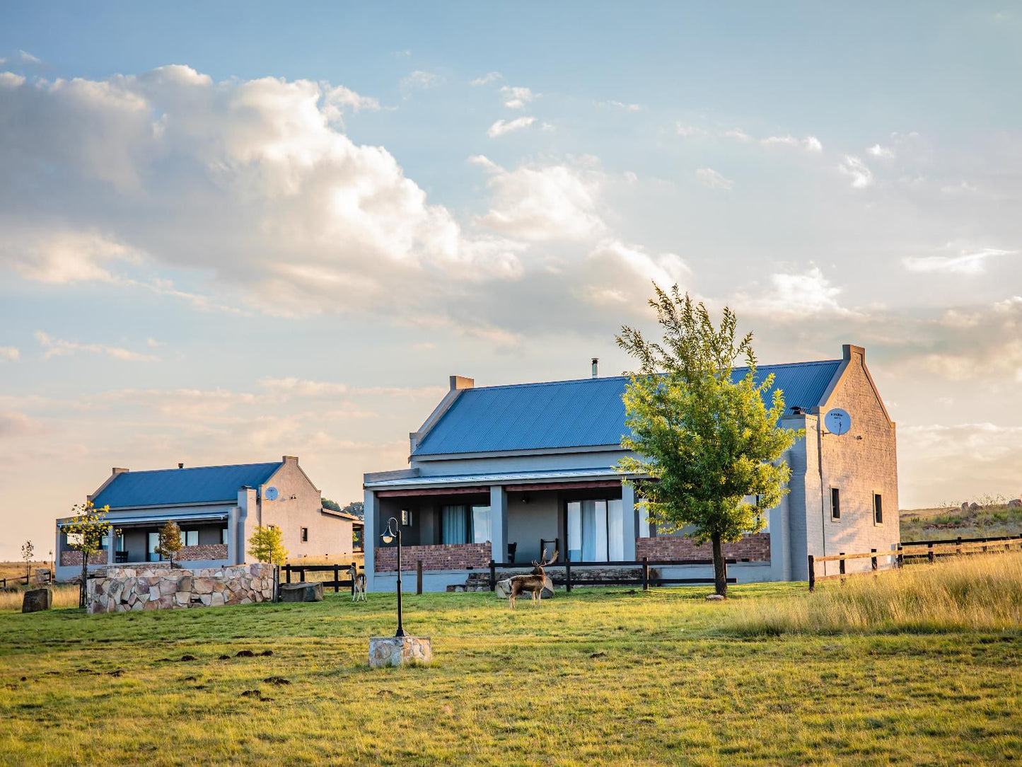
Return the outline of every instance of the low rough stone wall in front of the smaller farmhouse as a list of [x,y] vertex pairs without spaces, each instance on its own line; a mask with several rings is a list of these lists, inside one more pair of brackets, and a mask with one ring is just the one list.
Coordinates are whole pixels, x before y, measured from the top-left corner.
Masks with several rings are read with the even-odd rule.
[[170,568],[165,562],[107,568],[89,579],[89,613],[217,607],[273,599],[272,565]]

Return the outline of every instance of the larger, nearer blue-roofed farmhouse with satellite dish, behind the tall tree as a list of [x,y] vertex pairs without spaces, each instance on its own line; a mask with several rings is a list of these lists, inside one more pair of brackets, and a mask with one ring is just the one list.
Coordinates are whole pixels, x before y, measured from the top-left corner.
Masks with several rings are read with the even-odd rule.
[[[782,425],[804,428],[805,437],[785,454],[790,492],[765,529],[726,545],[735,560],[729,575],[738,582],[803,580],[808,554],[890,551],[899,540],[895,426],[866,350],[845,345],[841,359],[757,368],[757,377],[770,374],[784,394]],[[556,548],[561,561],[592,563],[582,569],[643,557],[709,559],[708,545],[651,526],[634,488],[614,471],[625,454],[626,384],[594,374],[476,388],[452,376],[449,393],[410,436],[409,467],[364,477],[370,588],[394,586],[396,550],[379,539],[391,516],[403,524],[403,565],[423,562],[427,590],[458,588],[489,573],[492,558],[538,559],[544,548]],[[878,566],[889,559],[880,555]],[[864,566],[871,567],[868,558],[848,562]],[[712,573],[704,563],[669,570],[680,578]]]

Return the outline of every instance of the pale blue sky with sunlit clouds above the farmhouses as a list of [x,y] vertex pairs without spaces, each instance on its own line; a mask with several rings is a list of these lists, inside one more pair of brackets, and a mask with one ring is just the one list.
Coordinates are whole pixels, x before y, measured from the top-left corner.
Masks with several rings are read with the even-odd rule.
[[112,466],[360,499],[654,281],[866,347],[903,508],[1018,497],[1019,82],[1011,2],[6,2],[0,559]]

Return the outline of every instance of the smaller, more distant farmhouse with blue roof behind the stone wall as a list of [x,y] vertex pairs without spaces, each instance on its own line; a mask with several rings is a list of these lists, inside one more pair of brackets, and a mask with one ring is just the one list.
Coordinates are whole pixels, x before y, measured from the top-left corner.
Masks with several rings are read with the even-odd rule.
[[[158,530],[169,520],[181,528],[184,544],[175,559],[192,568],[245,562],[257,526],[279,528],[292,557],[350,554],[353,526],[360,524],[352,514],[323,508],[319,489],[291,455],[270,463],[114,468],[88,500],[97,508],[109,506],[110,531],[90,561],[96,567],[158,561]],[[82,569],[81,553],[67,547],[67,522],[57,520],[59,579]]]

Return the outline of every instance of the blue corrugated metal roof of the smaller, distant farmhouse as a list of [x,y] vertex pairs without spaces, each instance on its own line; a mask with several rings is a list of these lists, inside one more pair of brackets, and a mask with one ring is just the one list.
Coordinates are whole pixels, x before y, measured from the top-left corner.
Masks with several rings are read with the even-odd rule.
[[165,506],[236,500],[244,487],[259,487],[283,464],[241,463],[233,466],[162,468],[125,471],[92,499],[96,506]]

